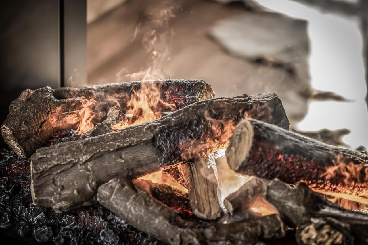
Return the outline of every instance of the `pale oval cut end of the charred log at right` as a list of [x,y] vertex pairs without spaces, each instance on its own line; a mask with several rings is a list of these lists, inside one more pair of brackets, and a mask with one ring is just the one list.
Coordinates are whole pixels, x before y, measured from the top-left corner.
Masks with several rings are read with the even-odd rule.
[[241,163],[247,158],[252,147],[253,136],[252,123],[247,119],[241,120],[234,129],[233,137],[226,149],[226,159],[231,169],[238,170]]

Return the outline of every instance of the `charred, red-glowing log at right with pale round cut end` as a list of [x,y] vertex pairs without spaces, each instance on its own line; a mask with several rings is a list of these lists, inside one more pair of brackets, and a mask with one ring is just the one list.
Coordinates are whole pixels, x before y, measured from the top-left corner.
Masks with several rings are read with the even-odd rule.
[[368,153],[320,143],[258,120],[243,120],[226,150],[231,169],[305,182],[314,191],[368,203]]

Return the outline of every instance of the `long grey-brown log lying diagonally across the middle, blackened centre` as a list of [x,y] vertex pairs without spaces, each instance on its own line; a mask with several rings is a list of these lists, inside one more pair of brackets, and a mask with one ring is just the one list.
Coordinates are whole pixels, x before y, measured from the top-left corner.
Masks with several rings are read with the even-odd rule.
[[115,177],[137,177],[226,148],[244,116],[288,128],[276,93],[198,101],[153,122],[40,148],[31,158],[33,202],[62,212],[95,202]]

